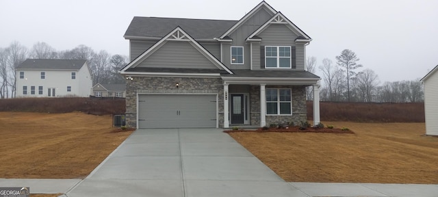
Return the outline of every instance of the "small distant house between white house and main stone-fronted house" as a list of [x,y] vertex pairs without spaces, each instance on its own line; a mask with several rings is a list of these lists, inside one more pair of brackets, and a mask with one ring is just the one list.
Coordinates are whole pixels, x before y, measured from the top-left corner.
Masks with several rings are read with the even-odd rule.
[[92,88],[92,96],[95,97],[120,97],[126,96],[125,84],[101,84],[96,83]]

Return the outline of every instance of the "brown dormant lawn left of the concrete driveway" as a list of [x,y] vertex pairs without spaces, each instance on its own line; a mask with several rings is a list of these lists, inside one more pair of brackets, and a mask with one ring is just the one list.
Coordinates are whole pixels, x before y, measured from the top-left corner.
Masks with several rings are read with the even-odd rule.
[[132,131],[111,116],[0,112],[0,178],[81,179]]

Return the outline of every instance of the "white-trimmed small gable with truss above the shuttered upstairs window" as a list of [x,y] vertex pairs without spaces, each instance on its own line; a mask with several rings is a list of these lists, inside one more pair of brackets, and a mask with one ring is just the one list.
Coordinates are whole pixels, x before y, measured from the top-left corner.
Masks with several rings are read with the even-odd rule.
[[301,42],[310,42],[311,41],[311,38],[309,36],[307,36],[307,34],[305,34],[304,31],[302,31],[300,28],[296,27],[296,25],[294,23],[292,23],[292,21],[290,21],[286,16],[281,14],[281,12],[278,12],[274,16],[272,16],[272,18],[270,18],[268,21],[266,21],[265,24],[261,25],[259,27],[259,29],[255,30],[253,34],[248,36],[248,38],[246,38],[246,40],[259,39],[259,37],[257,35],[259,35],[261,33],[261,31],[268,28],[270,24],[285,24],[285,25],[287,25],[287,27],[289,27],[289,29],[291,29],[292,31],[295,32],[295,34],[298,35],[298,38],[296,39],[296,41],[298,41],[298,42],[299,41],[301,41]]

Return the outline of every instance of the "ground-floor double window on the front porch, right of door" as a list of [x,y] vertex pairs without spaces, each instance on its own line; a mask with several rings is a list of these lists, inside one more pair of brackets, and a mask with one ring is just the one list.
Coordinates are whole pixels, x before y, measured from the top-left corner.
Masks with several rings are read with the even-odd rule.
[[292,115],[292,91],[285,88],[266,89],[266,114]]

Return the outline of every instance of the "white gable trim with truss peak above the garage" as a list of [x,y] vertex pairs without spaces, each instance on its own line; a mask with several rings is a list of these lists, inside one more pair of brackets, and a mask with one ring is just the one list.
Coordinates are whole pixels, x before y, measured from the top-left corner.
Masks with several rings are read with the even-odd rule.
[[149,57],[149,55],[153,54],[159,47],[162,47],[164,44],[166,44],[169,40],[177,40],[177,41],[183,41],[183,42],[191,42],[193,44],[193,47],[195,47],[198,51],[200,51],[201,54],[203,54],[207,59],[214,64],[216,67],[218,67],[220,70],[226,70],[227,73],[233,73],[227,66],[222,64],[216,57],[211,55],[209,51],[207,51],[204,47],[201,46],[196,40],[194,40],[189,34],[187,34],[181,27],[177,27],[170,31],[164,38],[159,40],[157,43],[155,43],[152,47],[150,47],[148,50],[144,51],[140,56],[138,56],[135,60],[130,62],[127,66],[122,68],[120,70],[120,73],[127,74],[127,71],[129,68],[135,68],[140,64],[144,59]]

